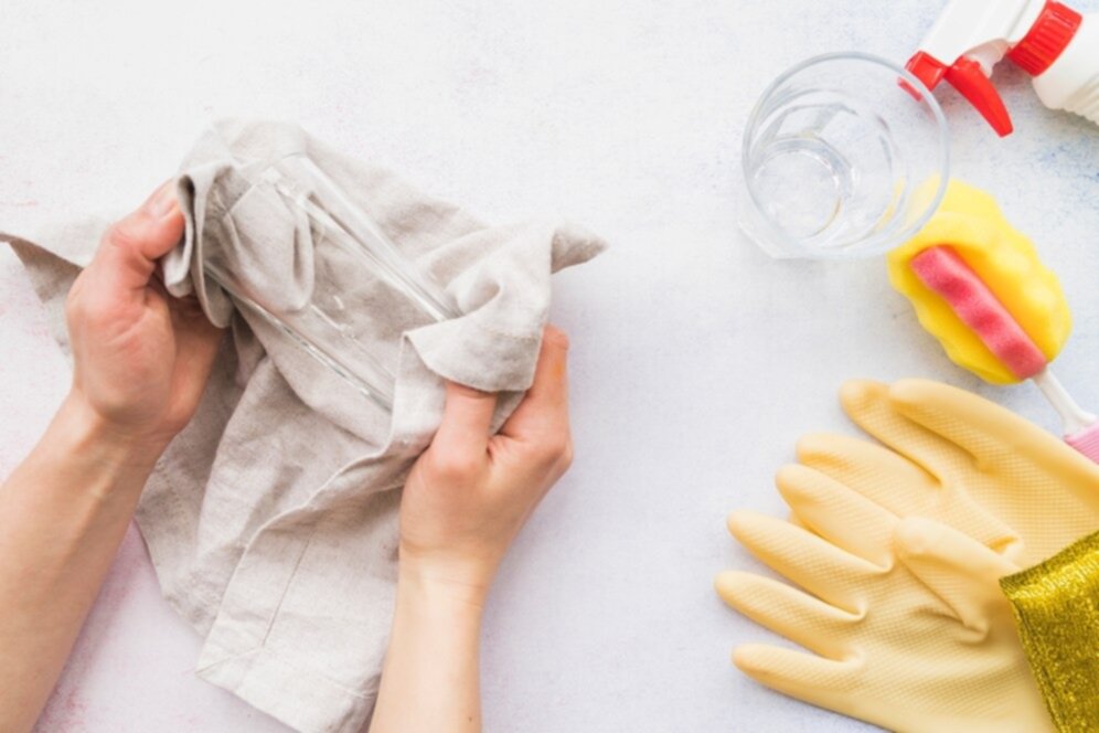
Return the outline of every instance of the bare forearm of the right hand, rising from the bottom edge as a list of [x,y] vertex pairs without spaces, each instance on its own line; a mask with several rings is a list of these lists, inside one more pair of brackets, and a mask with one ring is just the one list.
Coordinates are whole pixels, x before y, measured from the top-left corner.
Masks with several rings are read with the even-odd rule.
[[371,733],[481,730],[484,591],[402,563],[390,650]]

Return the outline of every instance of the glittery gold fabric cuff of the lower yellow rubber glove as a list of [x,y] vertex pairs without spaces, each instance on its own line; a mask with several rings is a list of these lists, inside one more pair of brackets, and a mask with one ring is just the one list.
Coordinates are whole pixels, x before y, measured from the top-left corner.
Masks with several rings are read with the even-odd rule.
[[1000,586],[1057,730],[1099,730],[1099,532]]

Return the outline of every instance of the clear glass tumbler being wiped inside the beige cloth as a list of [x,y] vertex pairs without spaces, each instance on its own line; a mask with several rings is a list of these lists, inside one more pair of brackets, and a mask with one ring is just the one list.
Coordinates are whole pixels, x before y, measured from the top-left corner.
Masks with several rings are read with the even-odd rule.
[[[246,195],[265,196],[273,215],[297,222],[288,233],[296,241],[255,251],[211,246],[206,276],[238,307],[392,411],[399,332],[380,340],[378,329],[457,318],[456,304],[308,157],[244,166],[241,173],[250,184]],[[291,255],[296,247],[309,251]]]

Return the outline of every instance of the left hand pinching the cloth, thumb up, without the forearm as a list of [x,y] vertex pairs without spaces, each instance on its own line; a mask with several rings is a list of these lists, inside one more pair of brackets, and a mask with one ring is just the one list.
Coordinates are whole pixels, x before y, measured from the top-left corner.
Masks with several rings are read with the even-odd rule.
[[194,414],[221,340],[198,301],[171,297],[156,277],[182,235],[168,182],[107,230],[65,304],[75,362],[66,406],[154,455]]

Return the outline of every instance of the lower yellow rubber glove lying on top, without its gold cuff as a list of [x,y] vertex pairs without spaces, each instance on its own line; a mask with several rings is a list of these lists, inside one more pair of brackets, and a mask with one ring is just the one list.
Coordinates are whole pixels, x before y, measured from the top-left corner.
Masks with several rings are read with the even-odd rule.
[[1054,730],[997,584],[1013,563],[811,469],[785,469],[783,481],[789,497],[818,501],[813,531],[749,513],[734,513],[729,530],[803,591],[734,571],[716,586],[733,608],[813,654],[746,645],[737,667],[896,731]]

